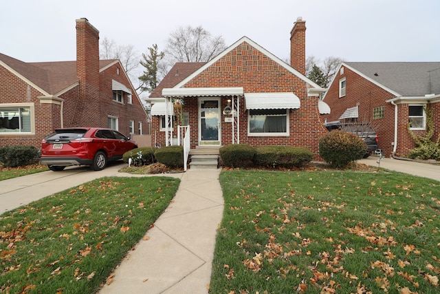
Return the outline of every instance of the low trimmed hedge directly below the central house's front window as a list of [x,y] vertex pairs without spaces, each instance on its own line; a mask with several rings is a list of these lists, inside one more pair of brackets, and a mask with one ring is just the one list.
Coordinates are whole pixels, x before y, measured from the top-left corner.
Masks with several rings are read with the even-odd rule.
[[300,167],[313,158],[314,153],[307,148],[260,146],[256,147],[254,162],[261,167]]

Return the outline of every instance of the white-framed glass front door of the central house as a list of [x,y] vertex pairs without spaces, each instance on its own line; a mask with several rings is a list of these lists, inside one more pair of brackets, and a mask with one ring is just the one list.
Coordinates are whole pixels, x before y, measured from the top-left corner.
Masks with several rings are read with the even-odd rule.
[[220,98],[199,98],[199,145],[220,145]]

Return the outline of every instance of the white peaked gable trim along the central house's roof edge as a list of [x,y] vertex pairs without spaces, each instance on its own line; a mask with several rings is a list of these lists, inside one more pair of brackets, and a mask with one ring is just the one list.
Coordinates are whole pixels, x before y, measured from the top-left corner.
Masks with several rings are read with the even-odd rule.
[[175,85],[174,87],[183,87],[186,83],[188,83],[189,81],[192,80],[192,78],[194,78],[195,76],[197,76],[198,74],[200,74],[201,72],[203,72],[203,70],[206,70],[208,67],[210,67],[211,65],[213,65],[214,63],[216,63],[217,61],[219,61],[219,59],[223,58],[223,56],[225,56],[226,54],[228,54],[229,52],[231,52],[232,50],[234,50],[234,48],[236,48],[238,45],[240,45],[241,43],[246,42],[249,45],[251,45],[252,47],[256,48],[256,50],[259,50],[260,52],[262,52],[263,54],[265,54],[265,56],[269,57],[270,59],[272,59],[273,61],[275,61],[276,63],[278,63],[278,65],[281,65],[282,67],[284,67],[287,71],[292,72],[292,74],[298,76],[298,78],[302,79],[303,81],[305,81],[307,84],[309,84],[311,87],[317,88],[317,89],[322,89],[318,84],[314,83],[314,81],[311,81],[309,78],[307,78],[305,75],[301,74],[300,72],[298,72],[297,70],[294,69],[294,67],[288,65],[287,63],[285,63],[284,61],[282,61],[281,59],[279,59],[278,57],[276,57],[274,54],[270,53],[269,51],[265,50],[263,47],[261,47],[259,44],[255,43],[254,41],[252,41],[251,39],[249,39],[247,36],[243,36],[241,39],[239,39],[238,41],[236,41],[234,44],[230,45],[228,48],[226,48],[223,52],[221,52],[219,55],[215,56],[213,59],[211,59],[210,61],[208,61],[205,65],[199,67],[198,70],[196,70],[195,72],[193,72],[192,74],[190,74],[190,76],[187,76],[186,78],[184,78],[182,81],[180,81],[177,85]]

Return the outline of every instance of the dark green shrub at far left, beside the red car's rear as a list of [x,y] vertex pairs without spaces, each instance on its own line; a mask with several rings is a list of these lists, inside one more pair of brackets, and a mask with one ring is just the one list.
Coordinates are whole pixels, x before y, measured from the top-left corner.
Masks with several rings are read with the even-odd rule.
[[0,165],[3,167],[25,167],[39,162],[39,150],[34,146],[0,147]]

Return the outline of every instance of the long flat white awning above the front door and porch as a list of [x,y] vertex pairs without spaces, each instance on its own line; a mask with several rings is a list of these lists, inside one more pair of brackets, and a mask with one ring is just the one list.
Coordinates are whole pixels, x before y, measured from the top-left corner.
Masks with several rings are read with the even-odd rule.
[[165,88],[164,97],[207,97],[243,95],[243,87]]

